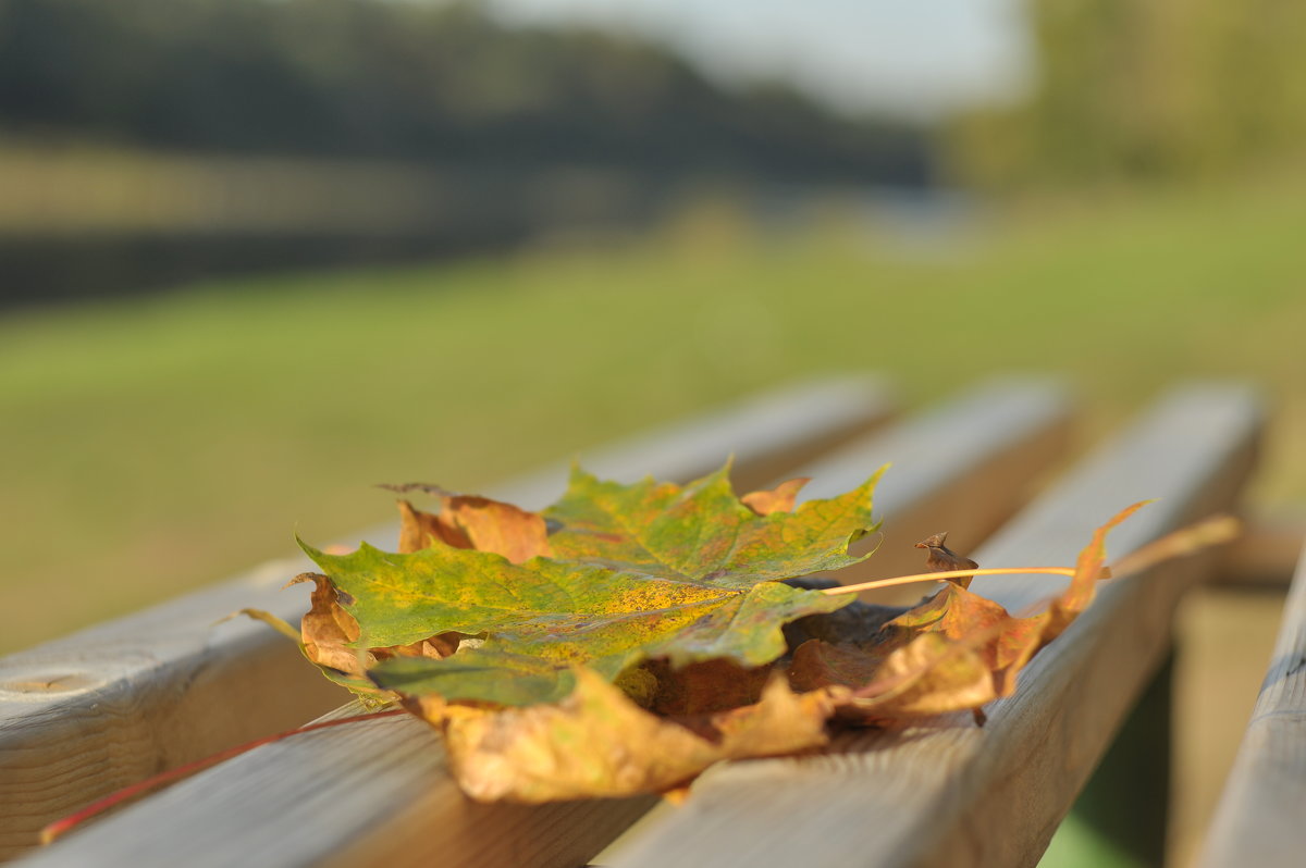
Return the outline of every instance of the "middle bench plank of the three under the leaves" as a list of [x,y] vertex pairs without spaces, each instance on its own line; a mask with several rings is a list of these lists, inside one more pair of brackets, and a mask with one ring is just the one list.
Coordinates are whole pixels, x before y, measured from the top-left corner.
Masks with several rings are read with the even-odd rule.
[[[900,449],[900,463],[887,509],[910,510],[926,501],[942,508],[957,496],[953,478],[939,473],[936,427],[952,444],[946,461],[964,475],[989,459],[1000,461],[1017,444],[1038,440],[1040,432],[1064,426],[1064,399],[1047,385],[995,385],[978,394],[980,406],[989,407],[985,412],[976,411],[972,395],[951,405],[952,411],[930,414],[929,424],[913,420],[889,435],[885,442]],[[960,410],[965,412],[959,415]],[[961,418],[968,427],[959,428]],[[885,457],[875,439],[850,446],[857,449],[863,450],[859,458],[844,452],[824,465],[844,478],[821,475],[812,493],[857,484]],[[1023,489],[1034,473],[1027,466],[1006,480],[1010,486],[999,484],[998,500],[1007,497],[1000,493],[1007,487]],[[974,478],[987,482],[983,474]],[[384,719],[253,751],[71,835],[33,856],[31,864],[73,865],[95,856],[135,865],[184,859],[192,868],[249,861],[396,868],[438,860],[576,865],[652,804],[628,799],[538,808],[475,805],[449,779],[428,727],[414,719]]]

